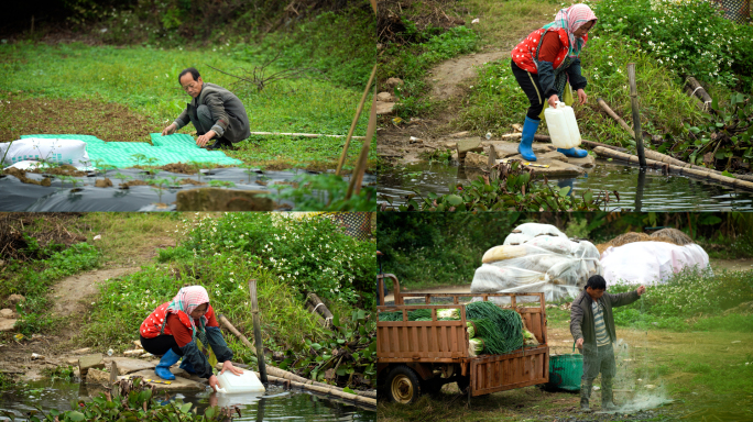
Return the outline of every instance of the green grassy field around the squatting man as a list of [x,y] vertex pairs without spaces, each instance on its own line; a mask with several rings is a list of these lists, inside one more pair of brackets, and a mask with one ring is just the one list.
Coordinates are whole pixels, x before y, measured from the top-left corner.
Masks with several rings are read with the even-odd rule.
[[[368,25],[363,31],[368,31]],[[308,33],[312,33],[310,29]],[[326,34],[325,29],[314,32],[317,37]],[[284,40],[283,36],[279,38]],[[358,82],[363,73],[368,76],[370,71],[365,66],[370,62],[368,37],[357,37],[353,43],[357,53],[350,54],[360,55],[357,57],[360,60],[354,63],[363,69],[348,67],[348,75],[312,71],[308,74],[312,78],[282,79],[261,91],[255,86],[236,84],[238,79],[209,66],[236,75],[240,74],[239,68],[251,71],[269,59],[265,55],[276,51],[279,46],[274,44],[268,43],[268,49],[263,51],[261,46],[254,49],[245,44],[230,43],[205,48],[164,49],[80,43],[3,44],[0,46],[0,99],[3,102],[0,142],[35,133],[92,134],[105,141],[149,142],[149,134],[161,132],[190,99],[177,82],[178,73],[189,66],[197,67],[205,81],[230,88],[238,95],[247,109],[251,131],[345,135],[362,95],[363,87]],[[373,41],[371,45],[373,52]],[[264,70],[265,76],[293,67],[313,65],[324,70],[335,67],[323,59],[308,63],[312,60],[296,58],[305,53],[301,52],[305,45],[284,47],[288,48],[290,58],[271,65]],[[316,53],[316,57],[325,54]],[[346,58],[342,54],[330,56]],[[370,104],[367,103],[354,135],[365,133]],[[193,131],[193,125],[182,130],[184,133]],[[342,144],[341,140],[329,137],[254,137],[251,141],[238,144],[239,151],[229,155],[253,165],[273,162],[277,167],[320,169],[334,167]],[[305,143],[305,147],[299,147],[299,143]],[[348,166],[352,166],[359,151],[360,142],[354,140]]]

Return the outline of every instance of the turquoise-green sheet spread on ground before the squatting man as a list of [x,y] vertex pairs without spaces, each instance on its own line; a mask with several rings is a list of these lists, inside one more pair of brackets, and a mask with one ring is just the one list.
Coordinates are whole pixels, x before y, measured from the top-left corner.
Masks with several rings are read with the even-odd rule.
[[114,166],[117,168],[135,165],[164,166],[171,163],[214,163],[232,166],[243,164],[231,158],[221,151],[207,151],[196,146],[190,135],[177,133],[162,136],[150,134],[152,143],[146,142],[105,142],[91,135],[23,135],[24,137],[77,140],[86,142],[86,152],[95,166]]

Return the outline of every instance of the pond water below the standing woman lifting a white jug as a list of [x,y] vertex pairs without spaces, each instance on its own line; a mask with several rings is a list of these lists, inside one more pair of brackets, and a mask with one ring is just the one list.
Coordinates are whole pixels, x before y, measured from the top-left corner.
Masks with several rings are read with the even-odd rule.
[[[393,204],[404,203],[414,191],[448,193],[450,185],[469,182],[480,173],[444,164],[417,163],[390,168],[378,177],[379,202],[390,198]],[[559,187],[570,186],[575,195],[587,189],[610,191],[609,210],[633,211],[750,211],[753,192],[711,184],[678,175],[663,176],[661,170],[643,174],[636,166],[597,160],[597,166],[583,176],[549,180]],[[616,190],[620,200],[611,195]]]

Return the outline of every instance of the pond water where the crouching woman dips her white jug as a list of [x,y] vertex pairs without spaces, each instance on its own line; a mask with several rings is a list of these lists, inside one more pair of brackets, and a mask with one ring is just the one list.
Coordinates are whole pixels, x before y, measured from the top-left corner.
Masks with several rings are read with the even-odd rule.
[[[85,385],[50,379],[33,381],[23,391],[0,391],[0,411],[9,411],[19,419],[36,408],[45,413],[51,409],[70,410],[72,400],[89,400],[101,389],[87,389]],[[171,400],[182,399],[198,408],[199,414],[209,406],[208,391],[171,392]],[[164,397],[164,392],[155,397]],[[229,399],[232,397],[233,399]],[[285,390],[282,386],[270,385],[263,395],[218,395],[218,404],[238,404],[241,417],[236,421],[376,421],[374,410],[356,407],[343,401],[331,400],[301,390]],[[8,420],[0,414],[0,421]]]

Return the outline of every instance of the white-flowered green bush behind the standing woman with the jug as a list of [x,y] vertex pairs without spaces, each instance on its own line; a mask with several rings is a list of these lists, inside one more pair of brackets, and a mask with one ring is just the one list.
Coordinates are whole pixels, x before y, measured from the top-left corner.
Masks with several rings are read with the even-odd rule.
[[753,27],[722,16],[705,0],[604,0],[591,3],[598,27],[637,40],[659,65],[729,87],[740,78],[751,89]]

